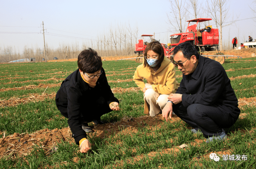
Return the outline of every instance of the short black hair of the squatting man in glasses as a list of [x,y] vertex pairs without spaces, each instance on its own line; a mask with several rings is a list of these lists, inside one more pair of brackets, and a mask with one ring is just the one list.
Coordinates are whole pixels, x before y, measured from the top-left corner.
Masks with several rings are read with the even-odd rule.
[[176,55],[179,51],[182,51],[184,57],[190,59],[192,55],[196,56],[196,59],[199,59],[199,54],[196,48],[189,42],[183,42],[177,45],[173,50],[173,55]]

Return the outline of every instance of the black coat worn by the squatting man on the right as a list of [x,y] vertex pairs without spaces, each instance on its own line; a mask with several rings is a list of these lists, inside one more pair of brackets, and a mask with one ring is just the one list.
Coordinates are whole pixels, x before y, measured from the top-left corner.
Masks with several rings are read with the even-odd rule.
[[195,71],[183,75],[176,93],[182,94],[182,104],[185,107],[198,103],[218,106],[236,119],[240,114],[238,100],[225,69],[217,61],[201,55]]

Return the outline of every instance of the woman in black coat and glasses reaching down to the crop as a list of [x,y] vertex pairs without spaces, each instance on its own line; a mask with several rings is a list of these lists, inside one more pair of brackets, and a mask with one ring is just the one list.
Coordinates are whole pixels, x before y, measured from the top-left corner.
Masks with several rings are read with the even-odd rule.
[[119,101],[114,97],[104,69],[101,57],[92,49],[78,55],[78,69],[71,73],[56,93],[56,106],[60,113],[68,118],[68,125],[80,152],[90,149],[86,132],[92,132],[88,122],[102,124],[100,116],[119,109]]

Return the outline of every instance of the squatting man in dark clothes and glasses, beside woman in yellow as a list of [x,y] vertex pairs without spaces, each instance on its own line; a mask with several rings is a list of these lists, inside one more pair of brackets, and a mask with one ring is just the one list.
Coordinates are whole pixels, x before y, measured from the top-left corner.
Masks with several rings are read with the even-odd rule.
[[225,69],[217,61],[199,55],[188,42],[174,48],[174,65],[183,78],[176,93],[169,95],[162,116],[167,121],[173,111],[194,128],[193,133],[202,132],[207,143],[224,140],[224,128],[231,127],[240,114]]

